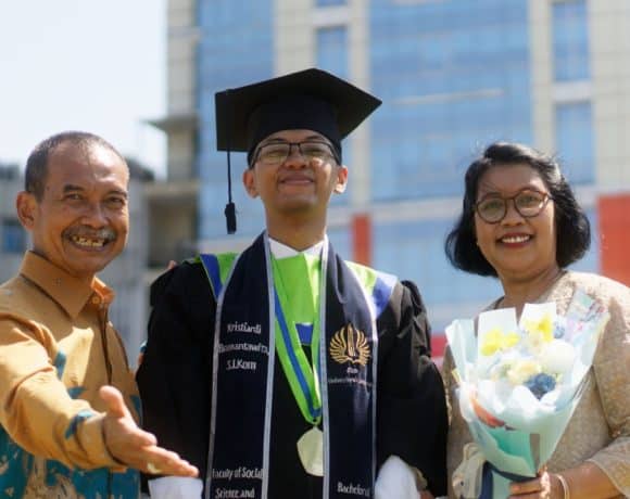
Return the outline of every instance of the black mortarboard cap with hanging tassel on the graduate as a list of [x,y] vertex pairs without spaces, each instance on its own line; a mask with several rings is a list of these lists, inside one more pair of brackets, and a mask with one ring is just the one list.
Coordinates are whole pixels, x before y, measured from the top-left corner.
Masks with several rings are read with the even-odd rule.
[[[214,95],[216,144],[228,154],[228,232],[236,230],[231,202],[229,152],[248,153],[280,130],[306,129],[325,136],[341,158],[341,140],[381,101],[348,81],[317,68],[304,69]],[[230,231],[230,228],[234,229]]]

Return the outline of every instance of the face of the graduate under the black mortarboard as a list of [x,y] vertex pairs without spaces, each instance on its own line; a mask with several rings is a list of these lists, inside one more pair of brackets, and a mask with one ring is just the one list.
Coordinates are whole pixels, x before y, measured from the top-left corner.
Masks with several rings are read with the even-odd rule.
[[[257,150],[301,142],[330,143],[312,130],[282,130],[262,140]],[[267,215],[299,216],[307,213],[325,217],[330,196],[343,192],[346,181],[348,168],[338,165],[335,157],[305,158],[295,145],[291,146],[282,163],[269,164],[259,155],[243,174],[248,194],[261,197]]]

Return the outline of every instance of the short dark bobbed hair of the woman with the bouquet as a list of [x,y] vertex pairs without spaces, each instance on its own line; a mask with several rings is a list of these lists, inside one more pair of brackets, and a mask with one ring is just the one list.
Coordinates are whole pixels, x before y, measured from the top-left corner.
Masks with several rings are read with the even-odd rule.
[[563,176],[557,161],[527,145],[509,142],[491,144],[466,170],[462,214],[446,236],[444,251],[451,264],[467,272],[494,276],[496,270],[486,259],[475,235],[475,203],[479,179],[490,168],[529,165],[540,175],[555,205],[556,261],[565,268],[579,260],[591,244],[591,226],[574,191]]

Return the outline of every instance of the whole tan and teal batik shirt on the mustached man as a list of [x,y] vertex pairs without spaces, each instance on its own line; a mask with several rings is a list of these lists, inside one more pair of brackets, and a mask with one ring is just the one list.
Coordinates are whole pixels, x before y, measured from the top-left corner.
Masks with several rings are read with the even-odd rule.
[[0,498],[136,499],[102,436],[100,386],[139,420],[140,399],[101,281],[77,282],[27,253],[0,286]]

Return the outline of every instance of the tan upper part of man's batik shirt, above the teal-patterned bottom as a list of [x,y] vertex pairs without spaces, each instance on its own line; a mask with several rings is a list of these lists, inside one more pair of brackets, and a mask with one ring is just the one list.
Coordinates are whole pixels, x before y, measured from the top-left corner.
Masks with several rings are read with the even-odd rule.
[[116,466],[103,440],[98,391],[117,387],[136,420],[139,397],[108,320],[113,297],[98,279],[89,285],[30,252],[18,276],[0,286],[0,424],[36,458]]

